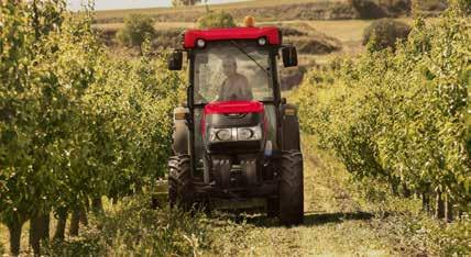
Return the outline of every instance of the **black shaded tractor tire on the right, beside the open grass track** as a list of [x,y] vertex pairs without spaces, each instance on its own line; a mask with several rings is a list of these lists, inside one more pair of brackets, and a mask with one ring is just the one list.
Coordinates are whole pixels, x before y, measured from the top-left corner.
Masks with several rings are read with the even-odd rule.
[[303,155],[299,150],[283,152],[280,182],[280,221],[298,225],[304,220]]

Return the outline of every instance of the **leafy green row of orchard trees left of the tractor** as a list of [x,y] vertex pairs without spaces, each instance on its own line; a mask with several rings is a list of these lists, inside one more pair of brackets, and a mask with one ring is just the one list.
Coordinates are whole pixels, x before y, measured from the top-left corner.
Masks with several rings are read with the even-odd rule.
[[0,221],[11,233],[164,176],[184,85],[165,54],[110,56],[91,13],[69,15],[58,0],[3,1],[0,33]]

